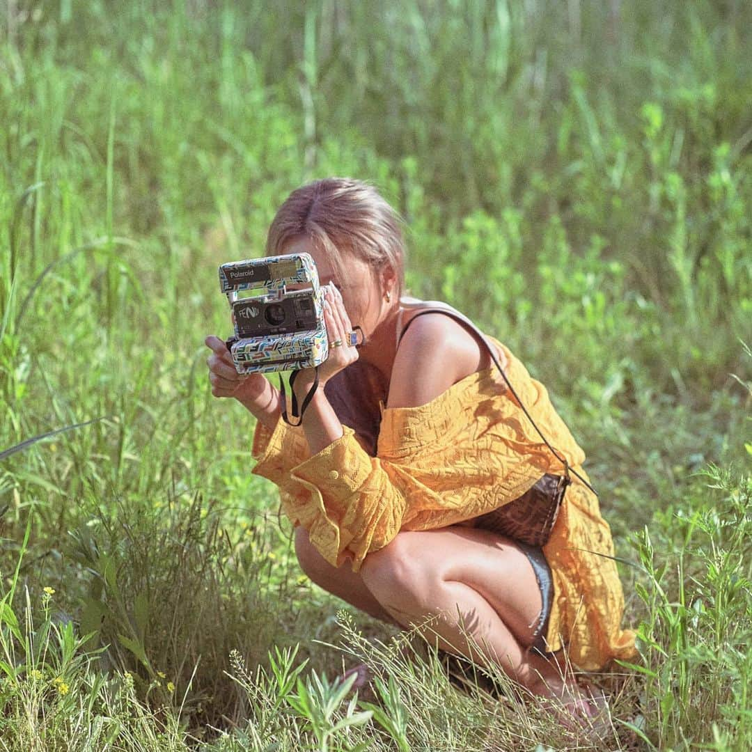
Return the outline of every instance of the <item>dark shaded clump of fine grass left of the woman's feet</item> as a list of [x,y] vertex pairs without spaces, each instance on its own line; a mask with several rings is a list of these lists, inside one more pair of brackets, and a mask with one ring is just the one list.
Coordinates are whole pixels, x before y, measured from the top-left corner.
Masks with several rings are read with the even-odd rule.
[[71,553],[89,578],[81,629],[152,702],[180,696],[186,717],[211,722],[208,700],[224,696],[221,713],[241,713],[223,675],[227,656],[238,648],[261,660],[285,617],[284,604],[271,600],[260,531],[233,534],[198,494],[152,508],[123,501],[116,514],[94,511],[72,533]]

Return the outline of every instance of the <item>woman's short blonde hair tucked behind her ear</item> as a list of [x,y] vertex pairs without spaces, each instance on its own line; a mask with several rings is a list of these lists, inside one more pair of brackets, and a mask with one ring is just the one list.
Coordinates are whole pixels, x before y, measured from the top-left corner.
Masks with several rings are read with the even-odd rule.
[[366,262],[374,278],[393,269],[396,296],[405,286],[405,242],[402,220],[378,191],[351,177],[326,177],[294,190],[269,226],[266,255],[284,253],[290,241],[308,238],[325,253],[341,277],[343,253]]

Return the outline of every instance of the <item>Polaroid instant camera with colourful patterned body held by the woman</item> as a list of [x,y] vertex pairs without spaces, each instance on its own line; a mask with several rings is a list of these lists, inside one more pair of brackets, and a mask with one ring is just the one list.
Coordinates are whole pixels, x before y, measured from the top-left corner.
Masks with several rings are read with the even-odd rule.
[[239,374],[296,371],[326,360],[324,291],[308,253],[233,261],[219,272],[235,329],[226,344]]

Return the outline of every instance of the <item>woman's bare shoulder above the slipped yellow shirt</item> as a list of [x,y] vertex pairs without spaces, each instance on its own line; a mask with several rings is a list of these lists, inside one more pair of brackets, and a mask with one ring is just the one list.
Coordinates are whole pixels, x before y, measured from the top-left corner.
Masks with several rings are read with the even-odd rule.
[[465,326],[440,313],[418,316],[399,343],[387,406],[426,405],[490,364],[486,348]]

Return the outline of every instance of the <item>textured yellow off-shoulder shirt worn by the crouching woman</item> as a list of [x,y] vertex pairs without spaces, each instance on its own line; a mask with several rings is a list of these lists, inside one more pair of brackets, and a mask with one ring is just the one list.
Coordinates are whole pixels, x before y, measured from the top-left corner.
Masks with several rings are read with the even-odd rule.
[[[584,453],[554,411],[546,389],[502,344],[511,384],[559,455],[584,475]],[[478,517],[517,499],[562,464],[541,441],[496,368],[472,374],[417,408],[383,408],[376,456],[353,429],[310,456],[302,429],[257,426],[254,471],[280,487],[282,508],[333,566],[353,572],[400,530],[426,530]],[[573,478],[544,555],[554,598],[549,650],[566,644],[582,670],[635,655],[620,629],[623,590],[611,530],[598,499]],[[599,555],[602,554],[602,555]]]

